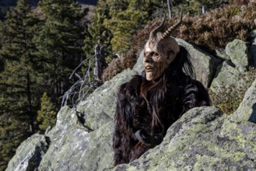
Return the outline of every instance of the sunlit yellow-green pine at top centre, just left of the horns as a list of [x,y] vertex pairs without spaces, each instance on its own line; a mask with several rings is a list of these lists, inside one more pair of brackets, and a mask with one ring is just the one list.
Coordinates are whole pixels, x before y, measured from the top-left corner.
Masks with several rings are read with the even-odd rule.
[[[158,0],[101,0],[108,9],[103,19],[105,26],[113,34],[110,43],[114,53],[125,54],[131,47],[133,35],[155,17],[163,16],[166,1]],[[167,5],[166,5],[167,9]]]

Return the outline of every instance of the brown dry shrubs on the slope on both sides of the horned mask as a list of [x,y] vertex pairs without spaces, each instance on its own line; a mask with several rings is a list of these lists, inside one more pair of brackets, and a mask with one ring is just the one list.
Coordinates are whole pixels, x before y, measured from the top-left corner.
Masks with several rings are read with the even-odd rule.
[[[241,8],[241,5],[244,5]],[[207,12],[201,16],[184,16],[179,30],[172,33],[174,37],[180,37],[191,44],[197,44],[205,51],[214,52],[216,48],[225,47],[227,43],[237,38],[247,40],[248,33],[255,28],[256,1],[237,0],[233,5],[224,5],[223,8]],[[177,16],[178,17],[178,16]],[[104,81],[107,81],[126,68],[135,65],[135,58],[143,49],[149,33],[153,28],[159,26],[162,19],[156,19],[140,30],[133,37],[132,48],[121,60],[114,60],[103,73]],[[166,27],[177,21],[172,19],[167,22]],[[132,55],[131,55],[132,54]]]

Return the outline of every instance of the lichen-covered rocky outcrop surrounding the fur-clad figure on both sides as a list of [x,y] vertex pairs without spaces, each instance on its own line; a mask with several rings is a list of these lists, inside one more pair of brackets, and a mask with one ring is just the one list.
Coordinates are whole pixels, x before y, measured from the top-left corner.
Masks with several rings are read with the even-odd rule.
[[[211,84],[214,75],[215,79],[231,82],[228,78],[241,72],[232,61],[226,60],[215,73],[220,60],[184,40],[178,42],[191,53],[195,72],[205,86]],[[142,58],[141,54],[133,70],[125,70],[105,82],[78,106],[61,108],[56,126],[45,134],[33,134],[23,141],[7,170],[256,168],[256,124],[252,123],[256,120],[256,80],[235,113],[228,116],[216,106],[189,110],[170,126],[160,145],[134,162],[114,167],[111,146],[117,89],[131,79],[132,74],[142,72]],[[225,75],[227,72],[230,75]],[[216,80],[212,85],[214,82]]]

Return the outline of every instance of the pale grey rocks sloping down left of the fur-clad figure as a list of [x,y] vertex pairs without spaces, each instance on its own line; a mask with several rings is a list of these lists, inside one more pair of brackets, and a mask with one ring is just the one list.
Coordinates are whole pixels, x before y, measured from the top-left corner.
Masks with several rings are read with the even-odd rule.
[[[9,162],[8,170],[103,170],[113,165],[112,132],[118,87],[132,78],[132,71],[125,70],[96,89],[79,106],[63,107],[57,124],[44,135],[35,137],[37,144],[48,140],[45,151],[27,155],[30,140],[20,145],[19,152]],[[33,146],[33,145],[30,145]],[[37,158],[39,156],[39,158]],[[26,164],[38,160],[36,164]],[[30,169],[28,169],[30,168]],[[32,169],[31,169],[32,168]]]

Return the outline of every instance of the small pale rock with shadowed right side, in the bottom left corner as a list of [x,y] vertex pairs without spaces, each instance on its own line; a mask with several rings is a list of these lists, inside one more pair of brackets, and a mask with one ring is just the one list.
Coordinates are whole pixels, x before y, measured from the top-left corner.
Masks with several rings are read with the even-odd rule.
[[33,134],[16,149],[16,155],[9,161],[6,171],[36,169],[47,148],[48,143],[44,135]]

